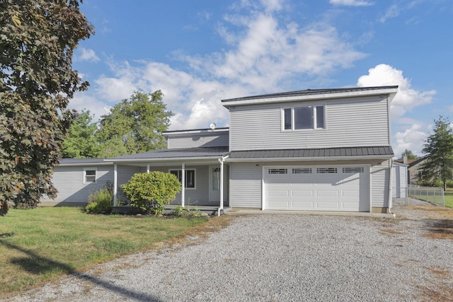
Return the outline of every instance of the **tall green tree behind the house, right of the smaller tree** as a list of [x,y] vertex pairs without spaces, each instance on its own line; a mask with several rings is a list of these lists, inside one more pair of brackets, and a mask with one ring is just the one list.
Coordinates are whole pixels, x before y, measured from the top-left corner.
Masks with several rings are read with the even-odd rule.
[[98,130],[103,156],[120,156],[162,149],[166,141],[162,132],[168,129],[171,111],[166,110],[161,91],[134,91],[128,99],[101,117]]

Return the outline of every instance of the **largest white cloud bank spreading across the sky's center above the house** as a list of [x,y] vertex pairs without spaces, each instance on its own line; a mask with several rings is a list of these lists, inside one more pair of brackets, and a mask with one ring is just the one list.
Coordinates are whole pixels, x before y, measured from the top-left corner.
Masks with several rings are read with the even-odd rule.
[[[226,16],[219,25],[229,49],[206,56],[177,52],[184,71],[161,62],[131,65],[110,59],[112,74],[93,81],[96,96],[111,104],[129,98],[137,89],[160,89],[167,108],[176,113],[171,129],[205,128],[211,122],[222,127],[229,123],[228,110],[220,103],[223,98],[294,89],[297,79],[318,79],[365,57],[331,25],[313,23],[301,28],[274,16],[276,11],[280,16],[284,5],[279,0],[243,0],[241,9],[248,10]],[[230,25],[239,31],[232,31]],[[300,85],[298,81],[297,88]]]

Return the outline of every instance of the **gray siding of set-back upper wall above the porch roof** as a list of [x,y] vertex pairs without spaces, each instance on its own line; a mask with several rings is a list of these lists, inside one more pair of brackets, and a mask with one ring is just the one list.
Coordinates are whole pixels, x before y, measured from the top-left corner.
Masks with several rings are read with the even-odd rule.
[[192,134],[189,137],[168,137],[168,149],[222,147],[228,146],[228,132],[214,132],[212,135]]

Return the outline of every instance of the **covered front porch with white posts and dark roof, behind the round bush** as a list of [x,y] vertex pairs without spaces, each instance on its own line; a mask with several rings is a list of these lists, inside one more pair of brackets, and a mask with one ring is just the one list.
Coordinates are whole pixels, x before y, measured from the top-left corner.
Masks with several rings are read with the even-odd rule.
[[[202,150],[200,150],[202,149]],[[110,159],[113,161],[113,204],[121,201],[120,185],[135,173],[160,171],[176,175],[181,191],[170,206],[217,207],[229,205],[229,165],[224,148],[196,148],[182,152],[165,149]],[[176,156],[181,155],[181,156]],[[184,155],[184,156],[182,156]]]

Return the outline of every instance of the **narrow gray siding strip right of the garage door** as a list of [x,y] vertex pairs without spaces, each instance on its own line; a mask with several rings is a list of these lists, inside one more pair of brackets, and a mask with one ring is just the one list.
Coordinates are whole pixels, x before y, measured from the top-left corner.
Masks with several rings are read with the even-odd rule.
[[389,207],[389,161],[371,167],[372,207]]

